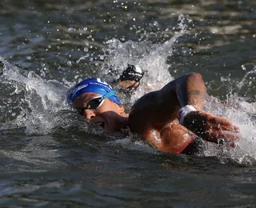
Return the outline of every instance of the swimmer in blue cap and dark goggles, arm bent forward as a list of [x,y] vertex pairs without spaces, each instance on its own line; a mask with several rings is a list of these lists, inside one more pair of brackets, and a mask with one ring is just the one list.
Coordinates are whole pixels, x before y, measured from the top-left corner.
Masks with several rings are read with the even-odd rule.
[[230,145],[238,138],[239,129],[232,122],[202,110],[205,99],[206,86],[198,73],[143,95],[130,114],[113,88],[100,78],[83,80],[69,93],[74,109],[86,120],[111,132],[129,128],[158,150],[174,154],[190,153],[196,138],[214,143],[226,139]]

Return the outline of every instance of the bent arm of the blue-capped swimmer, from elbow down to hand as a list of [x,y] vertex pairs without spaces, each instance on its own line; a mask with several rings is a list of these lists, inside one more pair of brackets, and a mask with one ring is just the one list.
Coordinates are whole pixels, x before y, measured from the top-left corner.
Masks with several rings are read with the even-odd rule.
[[[202,111],[203,102],[206,98],[206,86],[201,74],[186,74],[174,82],[170,82],[162,90],[165,92],[164,96],[175,90],[180,107],[182,107],[178,112],[178,118],[182,125],[194,134],[206,141],[216,143],[220,138],[231,140],[239,138],[239,129],[232,122],[226,118]],[[188,112],[182,112],[182,110],[187,110],[187,105],[189,105]],[[190,112],[191,109],[192,112]]]

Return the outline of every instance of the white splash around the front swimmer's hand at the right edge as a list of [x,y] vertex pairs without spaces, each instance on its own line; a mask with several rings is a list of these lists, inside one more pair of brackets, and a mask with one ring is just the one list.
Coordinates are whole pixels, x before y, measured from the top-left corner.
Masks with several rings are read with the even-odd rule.
[[203,156],[217,156],[221,162],[238,162],[243,165],[256,163],[256,102],[246,102],[238,95],[230,95],[226,106],[222,106],[217,98],[206,99],[205,109],[210,113],[234,122],[240,129],[240,138],[235,141],[235,147],[228,143],[224,145],[206,144]]

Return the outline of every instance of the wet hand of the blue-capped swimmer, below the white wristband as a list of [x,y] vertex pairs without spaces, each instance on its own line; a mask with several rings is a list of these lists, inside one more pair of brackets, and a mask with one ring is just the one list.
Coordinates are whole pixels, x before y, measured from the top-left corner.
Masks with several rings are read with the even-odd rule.
[[240,138],[239,128],[233,122],[204,111],[191,111],[186,114],[183,126],[209,142],[218,143],[223,138],[231,141]]

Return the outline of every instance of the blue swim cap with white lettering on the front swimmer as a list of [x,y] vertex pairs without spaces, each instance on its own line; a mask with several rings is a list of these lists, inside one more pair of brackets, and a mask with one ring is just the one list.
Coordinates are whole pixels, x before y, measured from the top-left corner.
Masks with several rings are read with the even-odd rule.
[[[82,82],[79,82],[70,90],[70,93],[68,94],[68,99],[70,100],[70,102],[73,102],[75,98],[78,98],[78,96],[83,93],[97,93],[105,95],[110,91],[114,91],[113,88],[102,79],[87,78]],[[121,102],[116,95],[110,96],[109,99],[117,103],[118,105],[121,105]]]

